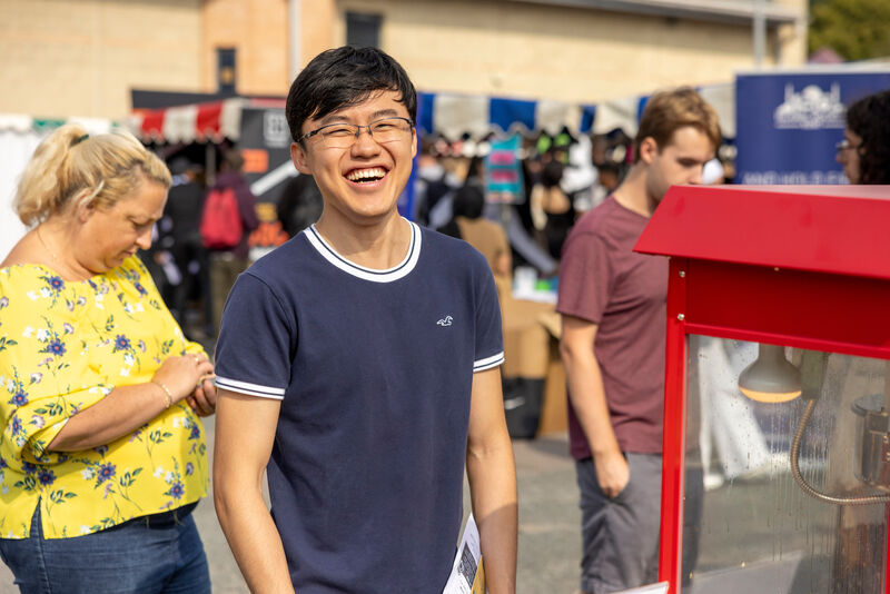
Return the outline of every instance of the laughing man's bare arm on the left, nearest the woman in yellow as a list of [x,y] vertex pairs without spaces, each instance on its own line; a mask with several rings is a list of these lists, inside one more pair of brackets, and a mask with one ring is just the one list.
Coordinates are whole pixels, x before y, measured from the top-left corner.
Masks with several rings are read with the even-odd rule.
[[214,504],[254,594],[294,592],[281,538],[263,499],[280,407],[280,400],[225,389],[217,400]]

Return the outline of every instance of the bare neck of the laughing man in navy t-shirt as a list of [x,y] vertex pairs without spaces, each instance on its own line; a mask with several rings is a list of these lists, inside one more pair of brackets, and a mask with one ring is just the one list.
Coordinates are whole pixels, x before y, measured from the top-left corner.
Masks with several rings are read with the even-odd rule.
[[375,270],[393,268],[400,263],[408,253],[412,235],[411,225],[398,212],[379,222],[357,225],[326,211],[315,229],[337,254]]

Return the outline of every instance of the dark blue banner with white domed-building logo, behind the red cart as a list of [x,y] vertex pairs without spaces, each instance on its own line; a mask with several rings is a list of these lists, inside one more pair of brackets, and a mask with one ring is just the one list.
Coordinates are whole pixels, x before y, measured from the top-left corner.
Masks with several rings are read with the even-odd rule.
[[846,184],[834,146],[847,106],[890,88],[890,69],[739,75],[735,181]]

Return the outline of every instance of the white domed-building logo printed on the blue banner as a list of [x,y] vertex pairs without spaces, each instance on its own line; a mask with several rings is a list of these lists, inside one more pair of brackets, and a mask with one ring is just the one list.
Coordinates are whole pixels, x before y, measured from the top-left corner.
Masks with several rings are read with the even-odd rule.
[[785,100],[773,112],[773,123],[777,128],[798,130],[843,128],[843,116],[841,88],[837,82],[830,91],[808,85],[800,92],[794,92],[794,86],[788,83]]

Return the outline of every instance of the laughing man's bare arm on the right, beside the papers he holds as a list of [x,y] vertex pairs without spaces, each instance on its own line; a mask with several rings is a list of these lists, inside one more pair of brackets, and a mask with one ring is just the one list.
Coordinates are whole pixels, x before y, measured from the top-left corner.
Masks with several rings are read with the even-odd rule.
[[491,594],[516,592],[516,467],[498,368],[473,375],[466,474]]

